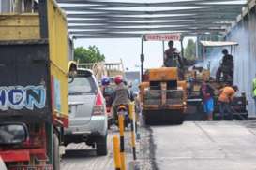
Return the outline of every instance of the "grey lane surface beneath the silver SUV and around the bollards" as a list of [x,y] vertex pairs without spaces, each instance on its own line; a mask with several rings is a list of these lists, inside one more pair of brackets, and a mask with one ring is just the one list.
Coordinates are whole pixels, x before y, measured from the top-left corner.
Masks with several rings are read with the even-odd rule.
[[[141,139],[136,142],[137,157],[141,170],[153,170],[151,163],[150,131],[141,127],[139,129]],[[61,170],[113,170],[113,135],[119,136],[116,128],[113,127],[108,135],[108,155],[97,156],[96,150],[81,144],[70,144],[66,148],[66,154],[61,161]],[[125,152],[127,169],[132,162],[132,151],[130,146],[130,132],[125,133]]]

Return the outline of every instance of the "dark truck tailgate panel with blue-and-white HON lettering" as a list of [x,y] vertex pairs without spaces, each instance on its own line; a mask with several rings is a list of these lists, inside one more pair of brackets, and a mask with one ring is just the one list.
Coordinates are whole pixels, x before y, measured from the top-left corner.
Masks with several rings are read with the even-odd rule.
[[0,120],[51,121],[48,42],[1,41],[0,56]]

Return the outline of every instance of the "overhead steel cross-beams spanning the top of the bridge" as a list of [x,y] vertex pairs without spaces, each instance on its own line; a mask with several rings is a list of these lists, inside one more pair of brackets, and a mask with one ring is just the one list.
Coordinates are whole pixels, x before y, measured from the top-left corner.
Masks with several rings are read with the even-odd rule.
[[[229,2],[236,1],[233,4]],[[131,3],[103,0],[58,0],[68,12],[68,30],[75,37],[138,37],[139,32],[222,34],[241,12],[240,0],[194,0]],[[221,4],[221,2],[226,2]],[[75,4],[75,5],[73,5]],[[133,7],[130,10],[129,7]],[[134,7],[139,7],[134,9]],[[143,7],[171,7],[142,10]],[[173,7],[173,8],[172,8]],[[176,8],[175,8],[176,7]],[[177,8],[179,7],[179,8]],[[76,12],[76,13],[71,13]]]

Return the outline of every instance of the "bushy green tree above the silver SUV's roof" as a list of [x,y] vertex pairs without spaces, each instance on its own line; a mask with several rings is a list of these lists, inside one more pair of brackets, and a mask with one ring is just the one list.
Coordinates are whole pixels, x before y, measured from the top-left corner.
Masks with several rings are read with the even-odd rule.
[[100,53],[96,46],[89,46],[88,49],[79,47],[75,49],[74,58],[79,63],[98,63],[105,61],[105,56]]

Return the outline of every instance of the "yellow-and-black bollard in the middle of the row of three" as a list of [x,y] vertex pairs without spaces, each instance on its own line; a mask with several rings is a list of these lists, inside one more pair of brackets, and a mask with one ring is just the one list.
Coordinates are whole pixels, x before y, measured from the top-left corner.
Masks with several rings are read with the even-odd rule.
[[120,132],[121,170],[126,170],[124,115],[118,115],[118,123],[119,123],[119,132]]

